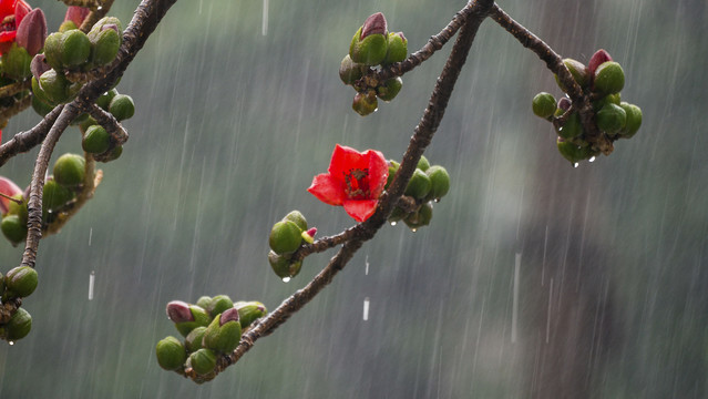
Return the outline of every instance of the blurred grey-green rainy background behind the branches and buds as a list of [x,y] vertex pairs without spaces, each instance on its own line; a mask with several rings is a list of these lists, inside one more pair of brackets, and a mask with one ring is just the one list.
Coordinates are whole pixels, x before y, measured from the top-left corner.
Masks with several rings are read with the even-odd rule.
[[[31,4],[59,27],[62,3]],[[167,301],[227,294],[273,309],[327,264],[334,250],[284,284],[267,236],[296,208],[318,235],[353,224],[306,192],[335,144],[403,154],[451,45],[360,117],[337,70],[362,21],[383,12],[417,50],[463,4],[178,1],[117,88],[137,105],[123,155],[41,242],[32,331],[0,346],[0,397],[708,396],[708,7],[695,0],[501,1],[563,57],[606,49],[639,133],[572,167],[531,112],[535,93],[561,94],[553,75],[488,20],[425,152],[453,180],[431,225],[382,228],[213,382],[157,366],[156,341],[176,335]],[[136,6],[111,14],[126,24]],[[14,117],[6,140],[38,121]],[[75,127],[53,158],[65,152],[80,152]],[[35,154],[0,174],[25,186]],[[0,243],[3,272],[20,257]]]

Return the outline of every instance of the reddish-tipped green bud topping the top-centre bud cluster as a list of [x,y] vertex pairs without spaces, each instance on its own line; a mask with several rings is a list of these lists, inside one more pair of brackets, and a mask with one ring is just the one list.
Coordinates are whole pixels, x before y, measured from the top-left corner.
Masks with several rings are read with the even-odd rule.
[[388,52],[386,18],[377,12],[363,22],[351,39],[349,55],[357,63],[378,65]]

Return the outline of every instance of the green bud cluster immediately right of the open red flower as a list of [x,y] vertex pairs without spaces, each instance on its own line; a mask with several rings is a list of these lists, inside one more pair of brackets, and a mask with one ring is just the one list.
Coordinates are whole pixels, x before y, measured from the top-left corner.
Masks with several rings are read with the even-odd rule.
[[[387,190],[393,181],[399,166],[398,162],[389,161]],[[440,202],[440,198],[448,194],[449,191],[450,175],[448,171],[440,165],[431,166],[428,158],[421,156],[415,172],[413,172],[403,193],[414,200],[414,206],[412,208],[396,206],[391,215],[389,215],[389,223],[394,226],[399,221],[403,221],[412,232],[417,232],[418,228],[430,224],[432,219],[432,203]]]

